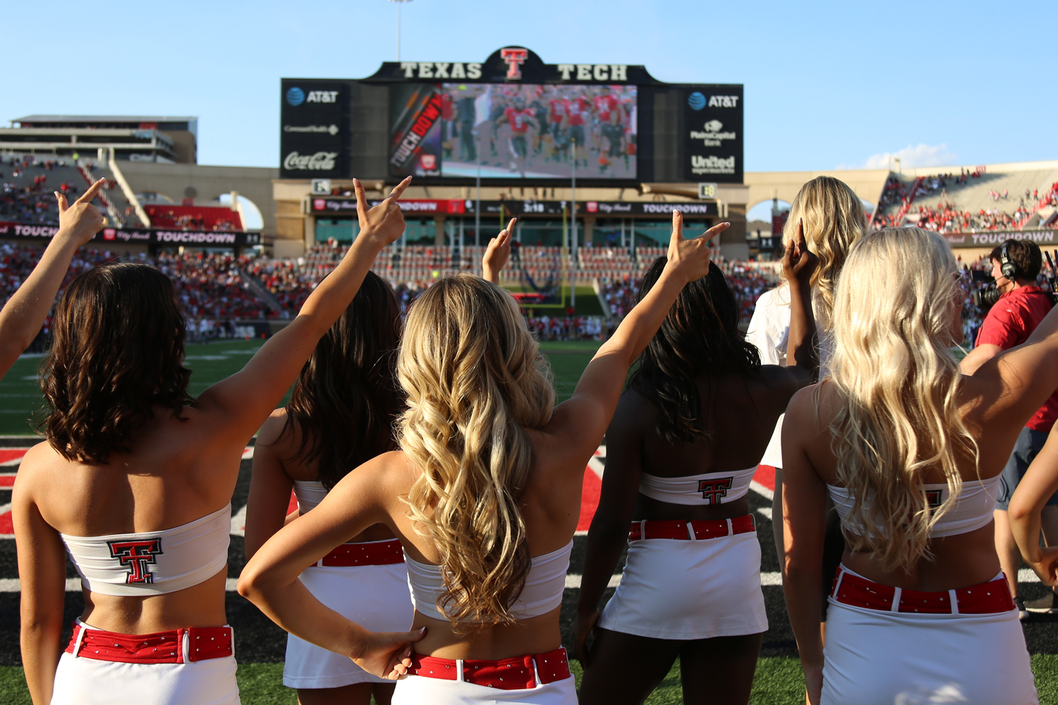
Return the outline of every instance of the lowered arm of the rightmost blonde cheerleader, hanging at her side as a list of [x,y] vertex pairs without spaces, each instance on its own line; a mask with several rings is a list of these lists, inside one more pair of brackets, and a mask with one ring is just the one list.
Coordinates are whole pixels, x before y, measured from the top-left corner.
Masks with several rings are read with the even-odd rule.
[[823,641],[819,632],[822,595],[826,484],[816,472],[805,441],[819,434],[813,387],[790,400],[783,423],[783,593],[794,628],[808,702],[819,705],[823,687]]

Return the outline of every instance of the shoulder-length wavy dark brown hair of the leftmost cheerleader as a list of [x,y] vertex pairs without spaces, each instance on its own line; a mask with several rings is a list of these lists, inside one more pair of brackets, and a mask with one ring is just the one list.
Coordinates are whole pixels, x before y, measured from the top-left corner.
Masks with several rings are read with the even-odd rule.
[[184,332],[172,283],[154,267],[106,264],[78,276],[55,310],[38,429],[67,460],[99,464],[129,452],[153,407],[180,418],[194,401]]

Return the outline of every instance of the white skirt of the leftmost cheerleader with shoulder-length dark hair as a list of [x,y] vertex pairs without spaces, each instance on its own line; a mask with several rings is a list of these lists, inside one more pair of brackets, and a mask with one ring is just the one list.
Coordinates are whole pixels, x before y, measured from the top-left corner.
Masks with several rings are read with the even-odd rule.
[[235,656],[126,664],[63,651],[51,705],[239,705]]

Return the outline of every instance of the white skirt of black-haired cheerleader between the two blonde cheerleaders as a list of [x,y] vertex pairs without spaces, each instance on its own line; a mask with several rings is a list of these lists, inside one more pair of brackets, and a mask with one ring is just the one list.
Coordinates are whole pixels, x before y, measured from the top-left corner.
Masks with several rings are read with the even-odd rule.
[[632,541],[621,585],[599,626],[681,641],[767,631],[756,532]]

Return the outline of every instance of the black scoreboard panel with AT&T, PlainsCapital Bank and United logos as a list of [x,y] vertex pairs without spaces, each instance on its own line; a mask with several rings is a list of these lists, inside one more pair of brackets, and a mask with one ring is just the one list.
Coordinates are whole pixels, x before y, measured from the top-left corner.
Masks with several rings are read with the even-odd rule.
[[[683,90],[681,159],[688,181],[742,183],[742,86],[694,86]],[[699,198],[715,198],[703,197]]]

